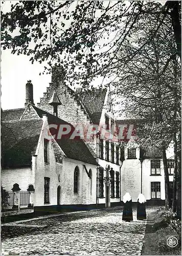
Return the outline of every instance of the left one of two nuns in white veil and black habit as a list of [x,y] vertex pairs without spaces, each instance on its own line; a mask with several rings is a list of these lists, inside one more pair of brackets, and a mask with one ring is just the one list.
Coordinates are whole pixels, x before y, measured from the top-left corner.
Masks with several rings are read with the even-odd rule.
[[129,193],[126,193],[123,197],[124,208],[122,213],[123,221],[133,221],[133,211],[132,211],[132,198]]

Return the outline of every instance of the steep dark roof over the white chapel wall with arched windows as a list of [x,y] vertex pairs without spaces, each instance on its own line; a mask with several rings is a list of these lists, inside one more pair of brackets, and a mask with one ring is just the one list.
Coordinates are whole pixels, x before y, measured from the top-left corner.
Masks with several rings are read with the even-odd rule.
[[[70,136],[72,135],[72,133],[74,132],[75,128],[73,127],[72,124],[67,123],[66,121],[53,116],[51,114],[49,114],[46,111],[43,111],[41,109],[38,109],[36,106],[32,105],[33,108],[35,109],[35,111],[37,112],[37,114],[39,115],[39,117],[42,117],[42,115],[46,115],[47,116],[47,120],[48,120],[48,124],[57,124],[58,125],[58,129],[59,129],[59,125],[69,125],[71,127],[71,131],[67,134],[64,135],[60,138],[55,138],[57,143],[59,144],[59,146],[61,147],[62,151],[64,152],[64,154],[71,159],[76,159],[76,160],[80,160],[86,163],[91,163],[94,165],[98,165],[96,162],[96,159],[93,157],[93,155],[91,154],[91,152],[89,151],[88,147],[86,146],[85,142],[80,139],[79,136],[75,137],[74,139],[70,139]],[[55,129],[51,130],[50,132],[52,135],[55,134]],[[57,130],[58,132],[58,130]]]

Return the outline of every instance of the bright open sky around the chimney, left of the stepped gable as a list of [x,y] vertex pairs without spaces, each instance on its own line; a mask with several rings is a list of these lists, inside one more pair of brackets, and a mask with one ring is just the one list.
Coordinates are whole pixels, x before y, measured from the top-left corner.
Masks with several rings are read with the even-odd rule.
[[[12,1],[5,1],[3,10],[8,11]],[[14,3],[17,1],[13,1]],[[163,4],[166,1],[160,1]],[[14,55],[11,50],[1,52],[1,107],[3,110],[24,108],[25,84],[31,80],[34,87],[34,103],[40,102],[51,75],[39,75],[43,66],[29,61],[30,56]]]

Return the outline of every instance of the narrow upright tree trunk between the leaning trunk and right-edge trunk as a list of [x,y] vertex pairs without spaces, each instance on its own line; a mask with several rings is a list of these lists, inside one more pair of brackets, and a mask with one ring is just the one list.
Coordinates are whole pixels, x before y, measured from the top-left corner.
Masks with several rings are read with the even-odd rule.
[[177,139],[176,134],[174,133],[174,175],[173,175],[173,200],[172,200],[172,210],[176,211],[176,192],[177,192]]

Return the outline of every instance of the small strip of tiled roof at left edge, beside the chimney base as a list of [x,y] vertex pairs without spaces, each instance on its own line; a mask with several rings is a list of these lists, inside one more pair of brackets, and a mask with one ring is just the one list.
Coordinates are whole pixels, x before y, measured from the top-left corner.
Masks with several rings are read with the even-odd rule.
[[24,110],[25,110],[24,108],[22,108],[22,109],[12,109],[12,110],[3,110],[1,119],[2,119],[2,121],[20,120]]

